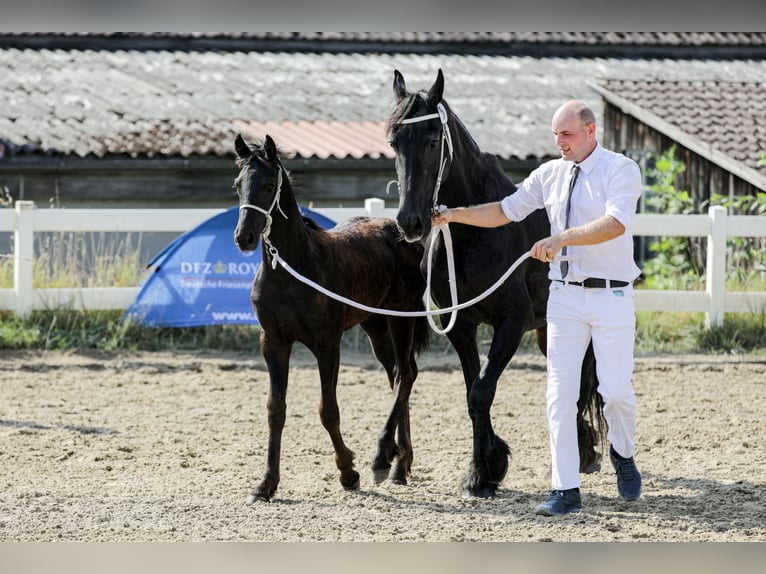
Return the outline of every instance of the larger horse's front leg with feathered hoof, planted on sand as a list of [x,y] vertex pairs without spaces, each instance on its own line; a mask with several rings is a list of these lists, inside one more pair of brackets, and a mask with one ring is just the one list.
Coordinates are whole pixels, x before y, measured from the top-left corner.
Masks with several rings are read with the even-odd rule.
[[511,316],[495,325],[487,362],[468,393],[468,414],[473,423],[473,460],[461,484],[463,496],[491,498],[508,472],[511,451],[492,428],[490,410],[497,382],[518,349],[524,322]]

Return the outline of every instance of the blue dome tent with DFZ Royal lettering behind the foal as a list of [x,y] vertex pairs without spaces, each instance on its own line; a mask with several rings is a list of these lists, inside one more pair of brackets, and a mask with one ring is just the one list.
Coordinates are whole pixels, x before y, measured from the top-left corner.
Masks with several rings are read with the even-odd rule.
[[[300,209],[325,229],[335,226],[319,213]],[[238,207],[227,209],[155,255],[123,320],[153,327],[257,325],[250,288],[261,263],[261,249],[243,253],[237,248],[238,217]]]

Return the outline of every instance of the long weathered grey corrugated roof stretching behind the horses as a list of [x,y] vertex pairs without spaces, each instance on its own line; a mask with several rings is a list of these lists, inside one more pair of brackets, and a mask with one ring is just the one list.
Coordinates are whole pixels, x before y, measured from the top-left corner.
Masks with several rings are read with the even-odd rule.
[[425,89],[439,68],[482,149],[522,160],[556,154],[550,117],[562,101],[600,114],[591,83],[766,78],[764,59],[9,48],[0,49],[0,142],[6,155],[228,156],[247,124],[279,129],[302,158],[390,157],[380,125],[394,69]]

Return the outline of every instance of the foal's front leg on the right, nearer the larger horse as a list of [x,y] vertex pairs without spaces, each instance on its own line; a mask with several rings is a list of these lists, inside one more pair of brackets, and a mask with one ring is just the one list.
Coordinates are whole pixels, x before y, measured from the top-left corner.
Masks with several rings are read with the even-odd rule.
[[340,369],[340,339],[324,342],[315,351],[319,364],[319,378],[322,384],[322,398],[319,402],[319,419],[330,435],[335,449],[335,465],[340,470],[340,483],[347,490],[359,488],[359,473],[354,470],[354,453],[343,442],[340,432],[340,409],[338,408],[338,371]]

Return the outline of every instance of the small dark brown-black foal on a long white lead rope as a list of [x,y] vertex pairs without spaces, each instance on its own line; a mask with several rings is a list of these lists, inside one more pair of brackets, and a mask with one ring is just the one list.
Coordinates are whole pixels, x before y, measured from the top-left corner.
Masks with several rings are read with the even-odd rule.
[[297,273],[367,307],[422,311],[422,245],[404,241],[393,219],[357,217],[332,230],[320,228],[302,217],[270,136],[262,147],[251,148],[238,134],[235,151],[241,170],[235,180],[240,213],[234,238],[242,251],[254,250],[262,239],[263,262],[253,281],[251,299],[261,325],[261,352],[270,378],[266,470],[249,500],[270,500],[279,484],[289,361],[296,341],[317,359],[322,385],[319,416],[335,448],[340,482],[346,489],[358,488],[354,453],[341,437],[336,397],[341,336],[355,325],[367,333],[394,392],[393,406],[378,436],[373,477],[376,482],[388,477],[406,484],[412,465],[409,396],[418,372],[415,354],[428,345],[426,320],[359,310],[305,285],[272,263],[279,255]]

